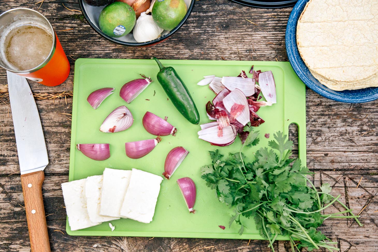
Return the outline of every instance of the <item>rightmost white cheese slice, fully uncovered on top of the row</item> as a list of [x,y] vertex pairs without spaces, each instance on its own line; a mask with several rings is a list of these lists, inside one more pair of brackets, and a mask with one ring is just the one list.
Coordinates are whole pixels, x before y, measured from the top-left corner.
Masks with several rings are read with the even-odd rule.
[[121,217],[150,223],[155,213],[161,181],[163,178],[158,175],[133,169],[122,204]]

